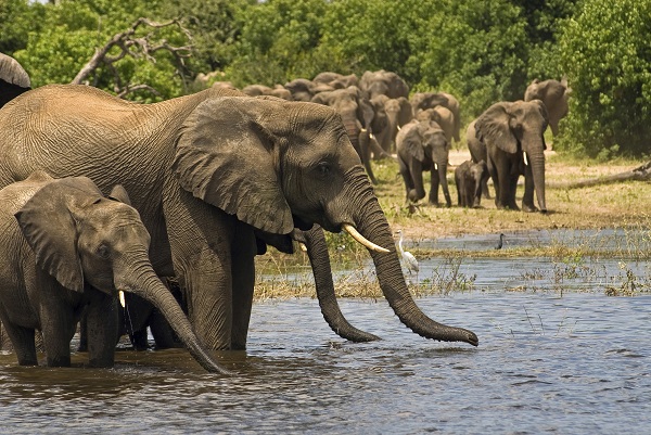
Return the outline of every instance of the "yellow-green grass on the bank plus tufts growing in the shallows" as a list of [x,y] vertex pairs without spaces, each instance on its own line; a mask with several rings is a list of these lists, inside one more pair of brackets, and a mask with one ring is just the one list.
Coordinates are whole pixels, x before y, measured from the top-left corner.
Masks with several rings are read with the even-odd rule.
[[[467,156],[467,151],[450,155],[451,166],[448,183],[452,203],[457,192],[452,171]],[[547,159],[546,178],[549,183],[596,178],[629,170],[644,162],[615,161],[608,164],[579,161],[550,154]],[[625,182],[596,185],[584,189],[547,189],[546,215],[512,210],[498,210],[494,200],[482,199],[482,208],[468,209],[457,206],[445,208],[420,204],[409,209],[405,204],[405,188],[396,162],[385,159],[373,163],[379,179],[375,194],[392,229],[401,229],[409,241],[409,251],[418,258],[441,258],[443,261],[432,276],[410,277],[406,272],[409,289],[417,295],[448,294],[452,291],[477,290],[475,276],[460,272],[464,258],[547,258],[551,269],[522,270],[520,278],[527,282],[511,291],[537,291],[536,282],[548,280],[556,291],[565,291],[570,280],[592,280],[597,289],[610,295],[631,295],[649,292],[651,278],[636,276],[628,261],[648,261],[651,258],[651,183]],[[425,174],[429,191],[429,175]],[[493,189],[490,187],[490,189]],[[518,202],[522,200],[523,187],[518,188]],[[439,192],[439,202],[444,202]],[[625,236],[607,235],[603,229],[624,229]],[[593,230],[597,235],[574,235],[571,239],[552,240],[542,244],[531,241],[527,246],[508,250],[438,250],[427,248],[427,241],[461,234],[497,234],[527,230]],[[327,233],[335,287],[340,297],[382,297],[374,269],[366,248],[345,233]],[[431,245],[431,243],[430,243]],[[617,273],[605,273],[598,260],[620,259]],[[307,256],[297,252],[289,256],[270,250],[256,258],[256,297],[315,297],[311,269]],[[341,272],[345,270],[346,272]],[[649,269],[647,269],[649,270]],[[528,284],[531,283],[531,284]]]

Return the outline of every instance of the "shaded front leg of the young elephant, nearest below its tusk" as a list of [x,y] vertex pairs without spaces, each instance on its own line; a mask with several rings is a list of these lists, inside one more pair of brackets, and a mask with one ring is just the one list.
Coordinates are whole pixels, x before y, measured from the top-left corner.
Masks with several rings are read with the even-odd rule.
[[91,367],[113,367],[118,331],[118,303],[113,296],[99,291],[93,293],[86,311],[88,362]]

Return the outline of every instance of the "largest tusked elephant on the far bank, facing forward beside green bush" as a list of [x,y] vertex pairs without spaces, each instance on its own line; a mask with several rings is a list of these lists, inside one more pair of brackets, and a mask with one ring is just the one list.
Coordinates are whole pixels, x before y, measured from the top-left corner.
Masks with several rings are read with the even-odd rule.
[[519,209],[515,189],[518,179],[524,175],[523,210],[537,210],[534,205],[535,191],[540,212],[547,212],[546,129],[547,111],[539,100],[495,103],[477,118],[476,137],[486,145],[486,164],[495,187],[497,208]]

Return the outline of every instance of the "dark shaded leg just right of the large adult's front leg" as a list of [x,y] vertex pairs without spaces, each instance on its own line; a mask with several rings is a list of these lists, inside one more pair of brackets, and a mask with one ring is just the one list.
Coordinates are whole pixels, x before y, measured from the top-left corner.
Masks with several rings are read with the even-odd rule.
[[253,305],[256,252],[253,229],[244,222],[238,222],[235,242],[231,251],[231,279],[233,282],[231,349],[233,350],[246,348],[246,335]]

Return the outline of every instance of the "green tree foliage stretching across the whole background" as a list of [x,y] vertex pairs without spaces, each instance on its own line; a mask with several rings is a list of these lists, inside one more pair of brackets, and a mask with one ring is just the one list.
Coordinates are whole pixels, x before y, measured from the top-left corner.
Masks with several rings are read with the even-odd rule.
[[[649,153],[651,0],[0,0],[0,51],[14,55],[34,86],[68,82],[97,48],[137,18],[181,18],[156,30],[192,44],[179,65],[165,53],[125,57],[112,77],[148,84],[155,101],[192,92],[200,73],[238,87],[273,86],[318,73],[394,71],[412,91],[458,97],[463,123],[497,101],[522,99],[534,78],[573,89],[560,149],[610,156]],[[142,30],[143,34],[153,31]],[[115,53],[113,53],[115,54]]]

